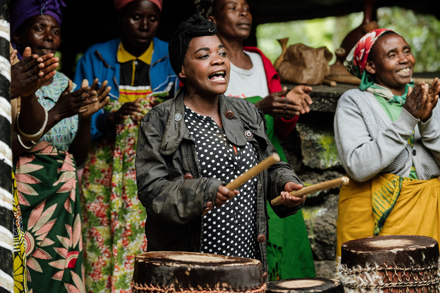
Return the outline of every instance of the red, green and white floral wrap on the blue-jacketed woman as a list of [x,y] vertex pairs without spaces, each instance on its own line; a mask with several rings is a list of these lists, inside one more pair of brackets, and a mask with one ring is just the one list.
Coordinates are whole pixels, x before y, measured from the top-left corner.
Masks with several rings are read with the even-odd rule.
[[[141,102],[146,113],[150,98]],[[121,103],[114,102],[108,112]],[[147,213],[137,198],[135,156],[139,125],[130,117],[116,137],[92,145],[84,166],[86,292],[129,293],[137,254],[147,251]]]

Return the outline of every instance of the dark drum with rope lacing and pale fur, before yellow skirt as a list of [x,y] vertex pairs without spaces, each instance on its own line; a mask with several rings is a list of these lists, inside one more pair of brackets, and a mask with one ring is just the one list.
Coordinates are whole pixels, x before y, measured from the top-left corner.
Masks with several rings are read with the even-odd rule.
[[439,261],[430,237],[374,236],[342,244],[336,274],[346,293],[437,293]]

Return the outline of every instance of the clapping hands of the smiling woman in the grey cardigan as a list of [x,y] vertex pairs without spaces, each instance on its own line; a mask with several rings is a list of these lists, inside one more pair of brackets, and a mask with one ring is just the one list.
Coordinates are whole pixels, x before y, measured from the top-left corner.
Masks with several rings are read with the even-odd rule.
[[438,78],[434,80],[430,89],[428,83],[421,81],[414,86],[414,89],[411,87],[408,89],[403,108],[415,119],[426,122],[431,117],[433,109],[437,105],[439,92],[440,81]]

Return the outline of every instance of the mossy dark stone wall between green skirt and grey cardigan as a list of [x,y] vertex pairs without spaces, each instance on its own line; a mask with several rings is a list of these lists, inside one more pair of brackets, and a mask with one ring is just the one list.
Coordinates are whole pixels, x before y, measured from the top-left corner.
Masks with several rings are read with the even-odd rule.
[[[350,88],[355,87],[313,86],[311,112],[301,115],[296,129],[281,140],[287,160],[305,185],[345,175],[334,143],[333,119],[337,100]],[[338,193],[339,188],[333,188],[308,195],[303,208],[317,277],[334,274]]]

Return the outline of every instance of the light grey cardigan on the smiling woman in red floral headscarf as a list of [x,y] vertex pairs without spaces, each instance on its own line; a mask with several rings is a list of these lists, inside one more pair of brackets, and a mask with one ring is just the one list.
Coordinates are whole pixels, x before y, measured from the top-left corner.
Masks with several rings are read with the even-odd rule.
[[[439,104],[425,123],[405,109],[392,122],[374,94],[359,89],[346,91],[337,104],[334,138],[347,174],[359,182],[380,173],[408,177],[414,164],[420,180],[439,176]],[[413,130],[411,149],[408,138]]]

